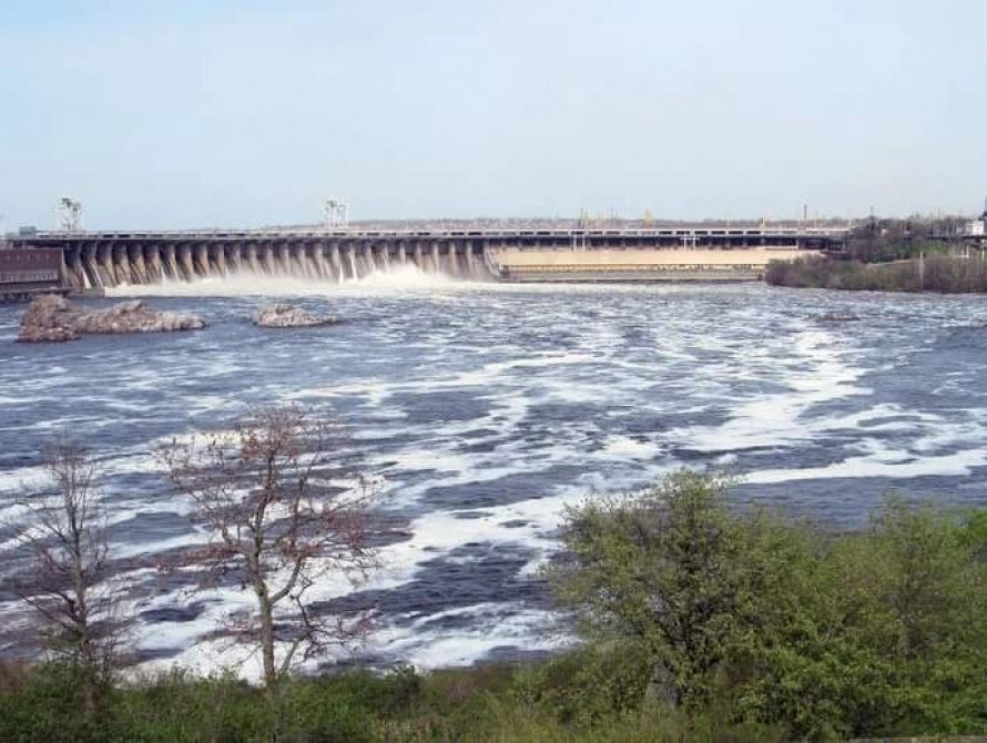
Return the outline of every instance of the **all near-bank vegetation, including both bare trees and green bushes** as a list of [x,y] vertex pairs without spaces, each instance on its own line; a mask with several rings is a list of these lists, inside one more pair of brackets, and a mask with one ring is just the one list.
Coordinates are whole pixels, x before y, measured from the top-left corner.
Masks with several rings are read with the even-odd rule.
[[[683,470],[569,508],[543,571],[561,627],[549,659],[421,673],[297,671],[370,631],[312,591],[373,570],[370,500],[333,487],[340,438],[316,411],[253,411],[163,456],[212,538],[182,570],[232,578],[254,610],[225,635],[235,671],[124,673],[91,460],[49,459],[54,488],[18,535],[6,586],[37,612],[45,660],[0,663],[0,740],[842,740],[987,733],[987,510],[889,499],[856,531],[731,503]],[[31,528],[28,528],[30,526]],[[228,589],[228,586],[227,586]]]

